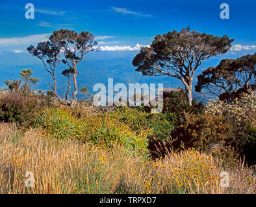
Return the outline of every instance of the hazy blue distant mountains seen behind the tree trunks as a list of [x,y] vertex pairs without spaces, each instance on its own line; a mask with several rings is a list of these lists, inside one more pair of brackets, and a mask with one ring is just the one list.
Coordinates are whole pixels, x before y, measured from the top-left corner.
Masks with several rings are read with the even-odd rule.
[[[135,71],[133,67],[131,57],[116,58],[111,60],[84,60],[77,65],[79,75],[77,76],[77,86],[79,90],[81,87],[87,87],[89,94],[96,94],[93,92],[93,87],[96,83],[103,83],[107,87],[108,78],[113,78],[114,84],[124,83],[163,83],[164,87],[183,87],[183,83],[177,78],[171,78],[168,76],[142,76],[140,72]],[[1,68],[0,76],[0,87],[5,87],[3,81],[19,78],[19,72],[23,69],[31,69],[34,72],[33,77],[39,78],[39,82],[36,83],[36,89],[42,89],[43,91],[50,90],[48,82],[52,83],[51,77],[47,71],[45,71],[43,64],[34,64],[34,65],[18,65],[14,67]],[[64,96],[66,92],[68,79],[61,75],[61,72],[67,69],[64,64],[60,64],[57,68],[57,84],[58,84],[58,93],[60,96]],[[196,84],[196,78],[194,80]],[[69,94],[71,98],[71,93]],[[199,93],[193,91],[193,97],[198,99],[198,101],[207,102],[207,100],[212,99],[211,96],[205,98]],[[79,92],[77,94],[79,100],[84,98],[84,94]]]

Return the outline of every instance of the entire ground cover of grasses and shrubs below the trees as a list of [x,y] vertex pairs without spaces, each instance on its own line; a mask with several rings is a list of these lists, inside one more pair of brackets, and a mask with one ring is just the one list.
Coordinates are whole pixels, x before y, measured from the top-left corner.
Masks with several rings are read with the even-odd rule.
[[0,193],[255,193],[255,92],[192,106],[181,89],[165,95],[160,114],[0,95]]

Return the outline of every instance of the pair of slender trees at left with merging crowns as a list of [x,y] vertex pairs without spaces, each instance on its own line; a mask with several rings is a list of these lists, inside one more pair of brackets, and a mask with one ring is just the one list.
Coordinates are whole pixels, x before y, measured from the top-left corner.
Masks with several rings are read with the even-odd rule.
[[[51,74],[53,78],[54,85],[49,86],[53,89],[55,96],[58,98],[60,103],[63,102],[60,96],[57,94],[57,81],[55,78],[55,72],[57,70],[57,65],[62,59],[62,62],[70,69],[62,72],[62,75],[68,77],[68,91],[66,92],[66,100],[68,98],[68,93],[71,89],[70,78],[73,76],[74,91],[72,93],[72,103],[71,106],[75,106],[77,103],[76,95],[77,90],[77,64],[83,60],[83,57],[91,51],[98,51],[99,47],[97,42],[94,41],[94,36],[90,32],[81,32],[78,34],[71,30],[58,30],[51,34],[49,41],[38,43],[36,47],[30,46],[27,48],[28,52],[32,56],[36,56],[44,63],[45,70]],[[62,56],[63,54],[63,56]]]

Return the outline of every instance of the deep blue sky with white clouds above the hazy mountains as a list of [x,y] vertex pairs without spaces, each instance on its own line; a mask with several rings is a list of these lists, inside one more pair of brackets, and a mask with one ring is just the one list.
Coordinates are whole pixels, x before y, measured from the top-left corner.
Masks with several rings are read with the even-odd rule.
[[[27,3],[34,5],[34,19],[25,18]],[[229,19],[220,18],[222,3],[229,4]],[[0,69],[40,64],[26,48],[44,41],[60,28],[94,34],[104,51],[92,52],[84,61],[127,57],[132,60],[140,45],[150,45],[155,35],[180,31],[187,26],[198,32],[214,36],[227,34],[235,39],[231,51],[206,60],[202,70],[218,64],[221,58],[256,52],[255,9],[255,0],[0,0]]]

